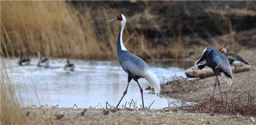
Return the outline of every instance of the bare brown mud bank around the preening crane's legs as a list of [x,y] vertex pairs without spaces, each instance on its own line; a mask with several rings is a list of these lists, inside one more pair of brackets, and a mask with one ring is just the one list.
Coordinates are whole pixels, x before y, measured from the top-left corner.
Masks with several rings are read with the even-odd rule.
[[[251,71],[233,74],[233,86],[230,92],[224,77],[219,76],[219,79],[223,98],[230,100],[231,98],[236,98],[241,95],[242,101],[247,101],[250,92],[250,96],[254,98],[253,103],[256,103],[256,72],[254,66]],[[195,80],[177,78],[177,80],[167,82],[161,86],[161,95],[181,99],[182,101],[199,103],[204,101],[208,94],[212,94],[214,84],[215,77]],[[215,92],[215,97],[220,98],[218,87]]]

